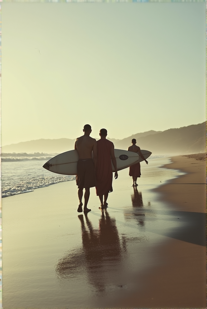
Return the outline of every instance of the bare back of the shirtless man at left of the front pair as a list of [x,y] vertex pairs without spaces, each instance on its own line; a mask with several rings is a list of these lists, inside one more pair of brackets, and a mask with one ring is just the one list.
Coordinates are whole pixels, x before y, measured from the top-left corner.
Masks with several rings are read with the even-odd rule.
[[83,135],[76,138],[75,149],[78,151],[79,159],[92,159],[92,151],[97,152],[97,142],[95,138]]

